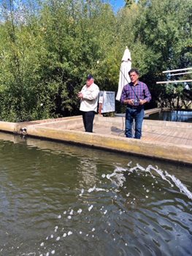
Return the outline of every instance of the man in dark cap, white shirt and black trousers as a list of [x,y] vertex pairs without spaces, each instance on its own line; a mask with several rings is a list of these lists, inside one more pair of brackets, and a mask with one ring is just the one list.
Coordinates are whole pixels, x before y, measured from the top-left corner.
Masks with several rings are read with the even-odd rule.
[[94,83],[93,75],[88,75],[85,86],[78,93],[80,110],[85,132],[93,132],[93,120],[97,112],[99,87]]

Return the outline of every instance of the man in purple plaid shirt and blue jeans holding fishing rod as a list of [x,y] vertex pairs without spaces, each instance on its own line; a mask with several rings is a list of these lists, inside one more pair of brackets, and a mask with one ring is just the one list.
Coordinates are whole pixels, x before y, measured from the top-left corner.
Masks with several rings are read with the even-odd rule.
[[142,136],[142,121],[144,118],[143,105],[150,102],[150,91],[145,83],[139,81],[139,71],[131,69],[128,72],[131,83],[123,87],[120,102],[126,104],[126,137],[133,138],[132,127],[135,121],[135,139]]

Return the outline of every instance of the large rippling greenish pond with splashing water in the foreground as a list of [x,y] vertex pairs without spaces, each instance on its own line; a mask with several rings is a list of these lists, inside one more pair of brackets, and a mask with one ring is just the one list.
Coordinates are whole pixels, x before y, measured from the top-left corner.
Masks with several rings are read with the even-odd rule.
[[192,255],[191,167],[0,134],[0,255]]

